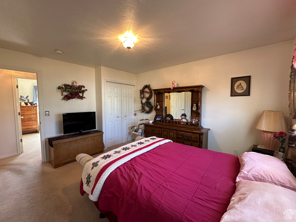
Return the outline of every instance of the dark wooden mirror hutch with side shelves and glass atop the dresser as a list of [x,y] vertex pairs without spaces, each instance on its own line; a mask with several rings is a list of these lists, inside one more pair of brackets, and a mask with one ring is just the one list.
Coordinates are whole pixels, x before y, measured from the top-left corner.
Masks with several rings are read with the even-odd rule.
[[[202,85],[198,85],[175,87],[173,89],[152,89],[154,92],[155,114],[162,115],[163,119],[165,118],[165,115],[171,114],[173,115],[173,119],[179,120],[181,118],[181,114],[185,113],[188,120],[190,117],[196,117],[197,124],[192,127],[201,129],[202,126],[200,119],[203,87],[204,86]],[[168,121],[166,122],[169,123]],[[173,124],[176,122],[178,121],[171,121],[170,123]],[[176,124],[180,125],[180,123]],[[184,126],[184,124],[182,126]]]

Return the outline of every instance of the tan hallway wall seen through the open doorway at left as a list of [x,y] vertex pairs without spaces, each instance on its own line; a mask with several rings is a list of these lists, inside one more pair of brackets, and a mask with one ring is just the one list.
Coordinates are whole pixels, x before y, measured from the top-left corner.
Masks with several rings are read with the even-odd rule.
[[34,73],[24,73],[0,69],[0,159],[17,155],[17,135],[15,128],[15,112],[13,104],[12,75],[36,77]]

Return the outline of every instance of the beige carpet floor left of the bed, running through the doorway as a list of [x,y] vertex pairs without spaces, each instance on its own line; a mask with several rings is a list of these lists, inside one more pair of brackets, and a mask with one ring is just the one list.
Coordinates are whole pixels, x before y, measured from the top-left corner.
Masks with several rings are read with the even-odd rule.
[[108,221],[87,194],[80,195],[83,167],[77,161],[56,169],[42,163],[38,133],[23,134],[23,144],[21,155],[0,159],[1,222]]

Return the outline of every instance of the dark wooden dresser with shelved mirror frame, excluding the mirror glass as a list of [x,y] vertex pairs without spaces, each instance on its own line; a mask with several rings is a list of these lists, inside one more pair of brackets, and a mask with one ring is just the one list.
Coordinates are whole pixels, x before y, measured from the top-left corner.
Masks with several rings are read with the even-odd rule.
[[[201,125],[203,87],[203,85],[197,85],[175,87],[173,89],[152,89],[154,92],[155,114],[161,115],[163,119],[154,121],[153,123],[145,123],[144,136],[157,136],[170,139],[176,143],[207,149],[208,131],[210,129],[203,128]],[[191,92],[189,104],[186,107],[189,106],[191,117],[198,118],[196,125],[189,125],[187,122],[180,123],[178,120],[165,119],[165,93],[181,92]],[[159,109],[156,108],[156,103],[160,105]],[[195,108],[193,108],[194,104],[196,105]],[[185,111],[182,110],[182,112]]]

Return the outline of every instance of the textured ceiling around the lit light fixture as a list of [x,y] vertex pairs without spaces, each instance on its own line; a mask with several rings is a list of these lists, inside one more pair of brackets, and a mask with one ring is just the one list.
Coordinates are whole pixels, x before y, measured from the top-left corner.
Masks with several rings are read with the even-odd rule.
[[[135,74],[296,36],[295,0],[0,0],[0,5],[1,48]],[[130,51],[118,40],[127,29],[139,38]]]

